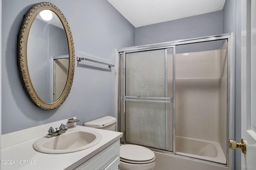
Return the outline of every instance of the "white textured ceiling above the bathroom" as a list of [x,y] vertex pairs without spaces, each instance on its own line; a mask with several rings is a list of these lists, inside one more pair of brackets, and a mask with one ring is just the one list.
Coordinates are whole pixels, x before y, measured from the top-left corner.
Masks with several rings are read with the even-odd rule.
[[134,27],[222,10],[226,0],[108,0]]

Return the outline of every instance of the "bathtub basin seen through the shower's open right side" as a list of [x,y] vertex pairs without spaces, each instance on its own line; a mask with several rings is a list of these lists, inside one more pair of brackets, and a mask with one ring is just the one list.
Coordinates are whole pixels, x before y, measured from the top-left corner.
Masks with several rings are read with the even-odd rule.
[[218,142],[176,136],[175,146],[176,154],[226,164]]

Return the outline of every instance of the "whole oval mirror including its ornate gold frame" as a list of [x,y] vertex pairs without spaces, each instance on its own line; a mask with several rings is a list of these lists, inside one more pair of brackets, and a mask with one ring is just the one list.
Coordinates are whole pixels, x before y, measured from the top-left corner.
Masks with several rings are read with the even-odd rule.
[[24,89],[44,110],[60,107],[74,77],[74,42],[63,13],[50,2],[27,12],[18,37],[18,67]]

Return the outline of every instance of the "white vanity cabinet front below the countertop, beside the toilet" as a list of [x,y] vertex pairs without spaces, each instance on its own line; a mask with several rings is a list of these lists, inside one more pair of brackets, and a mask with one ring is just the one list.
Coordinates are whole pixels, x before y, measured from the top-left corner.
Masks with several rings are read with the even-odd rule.
[[[112,143],[101,152],[80,164],[74,170],[119,170],[120,140]],[[68,168],[67,168],[68,170]]]

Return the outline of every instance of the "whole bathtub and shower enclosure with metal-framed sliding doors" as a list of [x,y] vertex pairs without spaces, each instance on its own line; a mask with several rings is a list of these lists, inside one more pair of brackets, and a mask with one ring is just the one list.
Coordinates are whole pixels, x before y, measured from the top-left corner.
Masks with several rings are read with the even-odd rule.
[[121,142],[152,149],[156,170],[231,168],[232,34],[118,49]]

